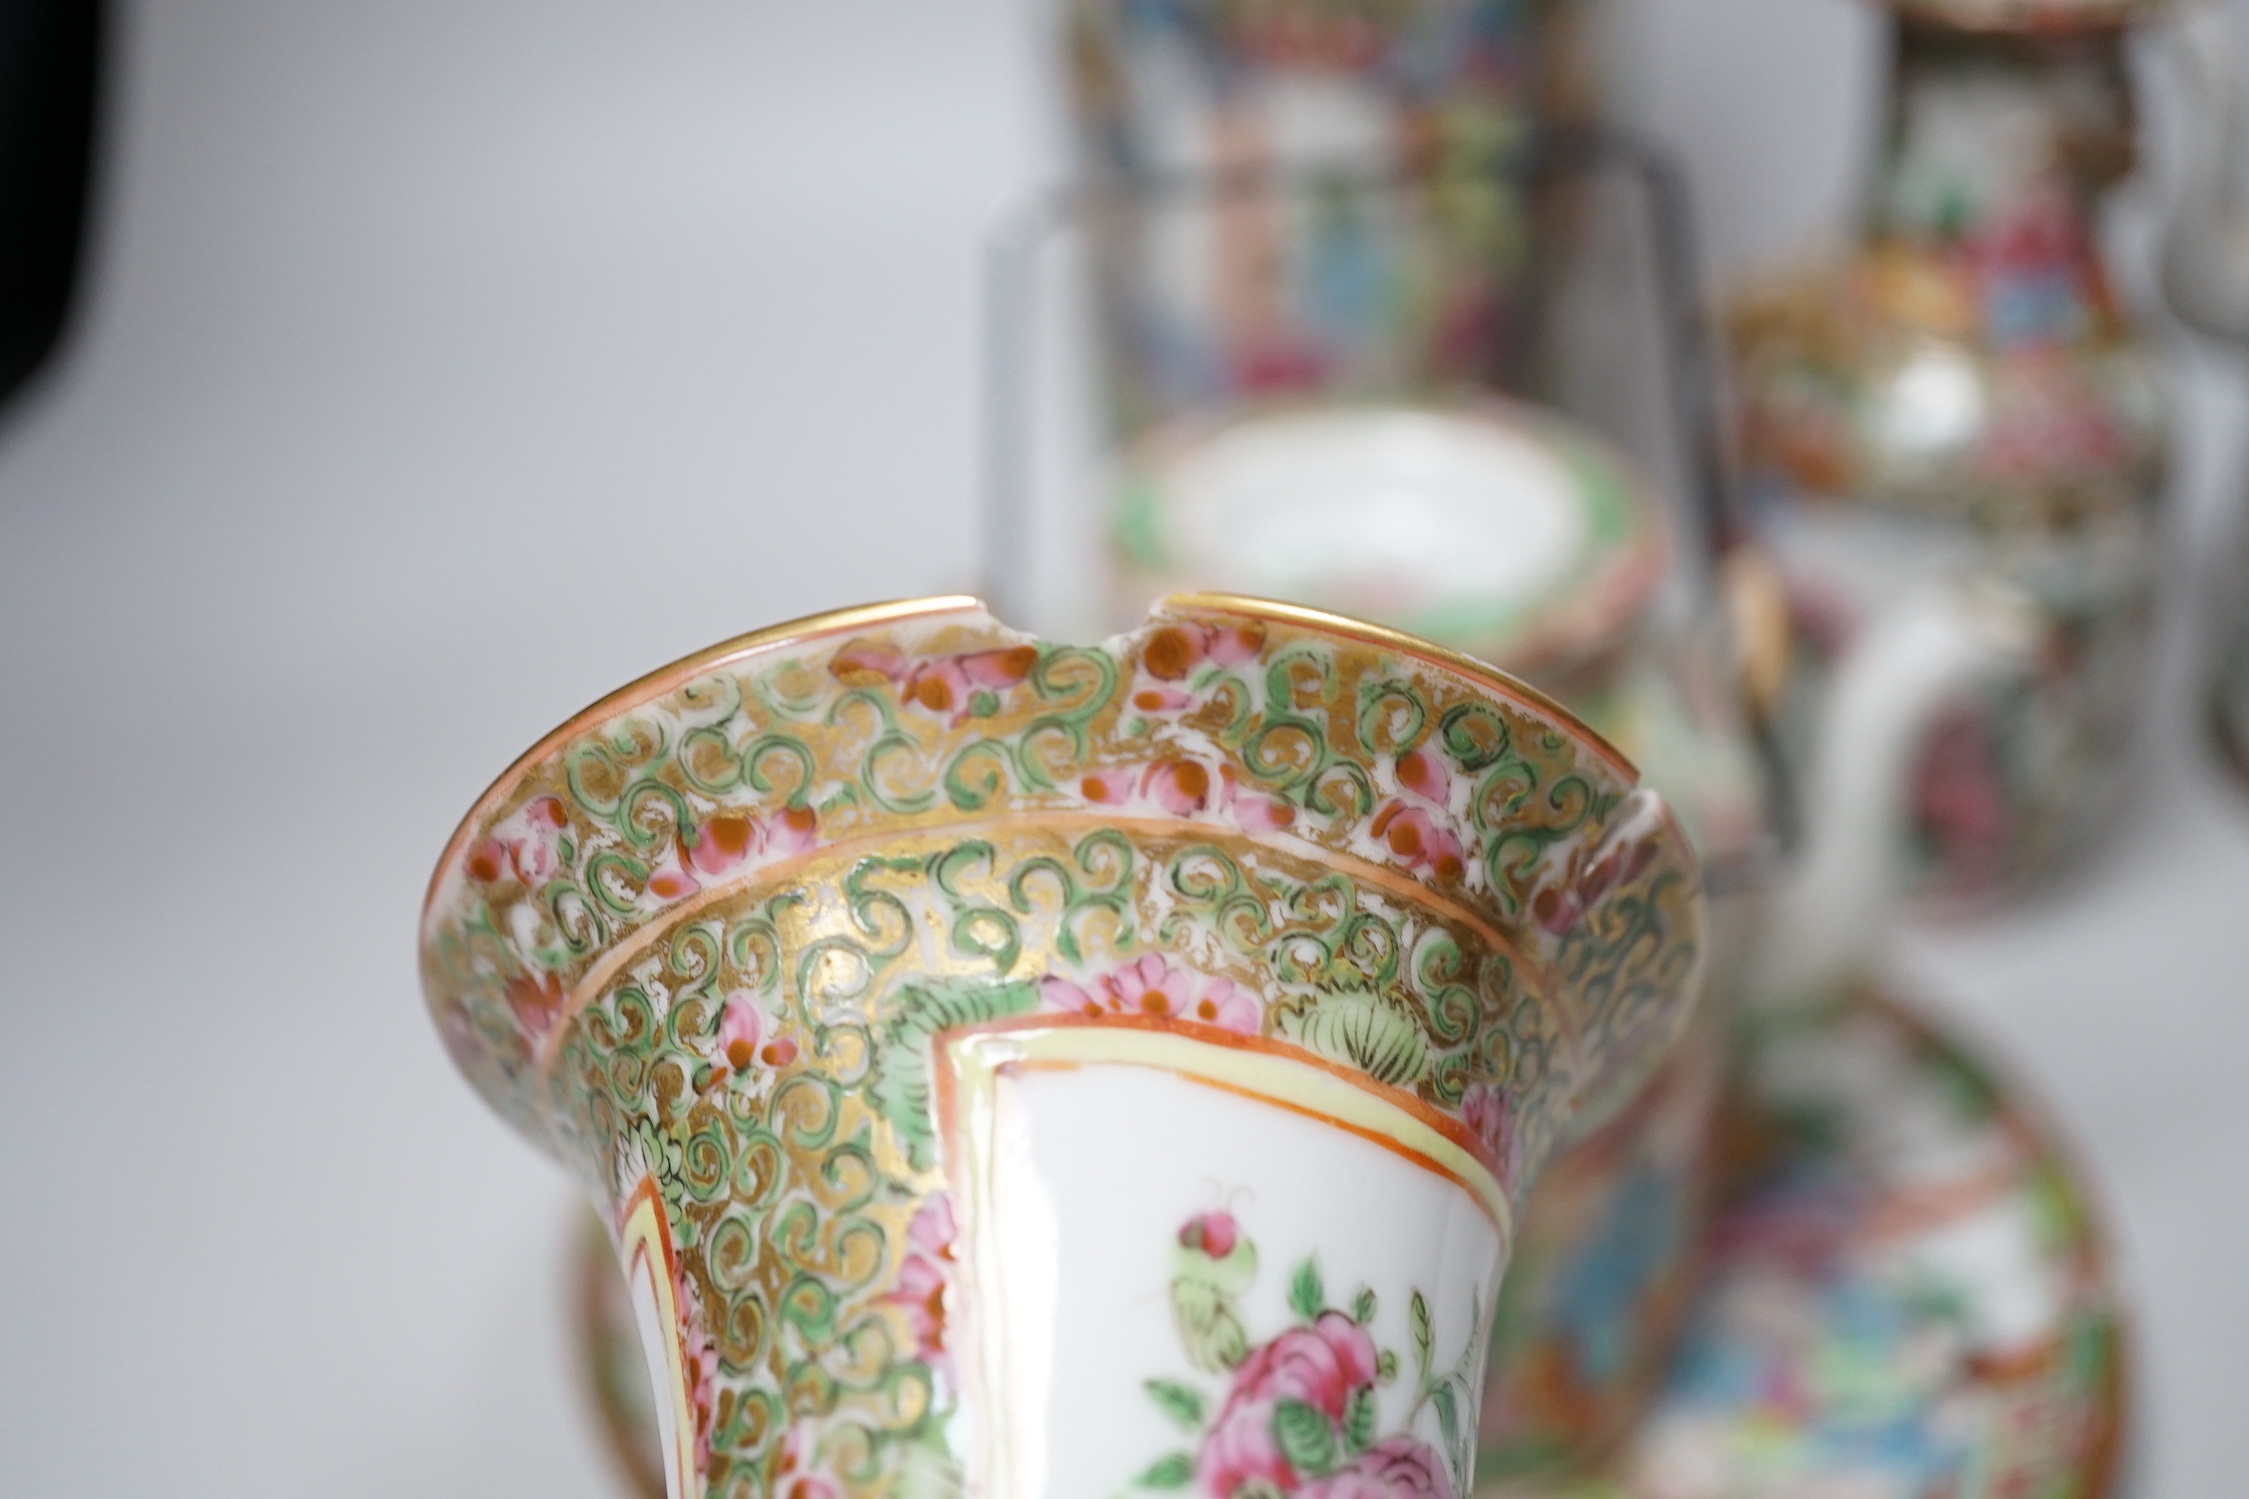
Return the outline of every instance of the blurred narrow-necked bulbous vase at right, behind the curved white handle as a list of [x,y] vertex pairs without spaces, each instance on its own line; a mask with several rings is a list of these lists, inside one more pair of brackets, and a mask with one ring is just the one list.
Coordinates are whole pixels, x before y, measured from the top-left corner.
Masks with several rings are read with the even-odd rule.
[[2020,892],[2098,841],[2146,683],[2170,407],[2098,247],[2137,157],[2137,0],[1894,4],[1858,245],[1734,312],[1741,443],[1799,641],[1788,742],[1824,667],[1930,578],[2035,616],[2022,670],[1916,748],[1918,890]]

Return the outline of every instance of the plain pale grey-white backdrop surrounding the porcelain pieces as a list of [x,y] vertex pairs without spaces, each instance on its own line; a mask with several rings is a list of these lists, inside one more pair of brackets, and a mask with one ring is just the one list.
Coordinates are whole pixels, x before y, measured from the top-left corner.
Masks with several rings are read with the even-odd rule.
[[[1835,231],[1855,0],[1619,29],[1723,267]],[[1050,155],[1041,43],[1030,0],[126,16],[85,319],[0,425],[0,1492],[616,1492],[569,1193],[421,1016],[421,881],[618,681],[972,578],[976,243]],[[2206,528],[2249,402],[2182,369]],[[1905,957],[2098,1164],[2146,1492],[2218,1499],[2249,798],[2184,663],[2110,858]]]

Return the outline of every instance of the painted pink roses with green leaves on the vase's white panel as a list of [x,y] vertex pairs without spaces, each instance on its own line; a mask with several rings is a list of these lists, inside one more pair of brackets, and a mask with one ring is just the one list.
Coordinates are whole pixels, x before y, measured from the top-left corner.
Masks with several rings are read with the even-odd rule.
[[[1210,1499],[1453,1499],[1473,1456],[1475,1360],[1471,1337],[1451,1371],[1433,1369],[1433,1324],[1421,1292],[1408,1299],[1415,1382],[1394,1398],[1399,1429],[1379,1434],[1383,1387],[1401,1380],[1399,1357],[1376,1344],[1379,1303],[1361,1288],[1349,1308],[1327,1303],[1318,1256],[1289,1277],[1295,1324],[1264,1342],[1241,1333],[1241,1294],[1257,1274],[1257,1250],[1230,1211],[1203,1211],[1181,1225],[1174,1247],[1172,1310],[1194,1380],[1147,1380],[1149,1400],[1190,1438],[1156,1459],[1133,1486],[1192,1490]],[[1471,1308],[1482,1326],[1482,1306]],[[1410,1396],[1410,1398],[1408,1398]],[[1439,1452],[1417,1434],[1424,1418],[1444,1436]]]

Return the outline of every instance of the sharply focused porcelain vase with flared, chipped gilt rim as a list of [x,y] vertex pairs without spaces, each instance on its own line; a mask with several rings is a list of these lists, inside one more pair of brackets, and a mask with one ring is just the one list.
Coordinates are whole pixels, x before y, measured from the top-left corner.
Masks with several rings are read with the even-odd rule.
[[609,1225],[675,1499],[1433,1499],[1525,1191],[1702,948],[1570,712],[1205,596],[675,663],[486,791],[421,951]]

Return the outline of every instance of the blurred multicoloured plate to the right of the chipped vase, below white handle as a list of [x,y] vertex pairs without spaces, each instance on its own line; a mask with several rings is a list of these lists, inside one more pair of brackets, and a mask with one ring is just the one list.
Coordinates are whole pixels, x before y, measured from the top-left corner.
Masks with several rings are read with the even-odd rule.
[[1606,1472],[1484,1499],[2107,1495],[2107,1259],[2006,1079],[1862,996],[1756,1036],[1736,1103],[1747,1171],[1669,1389]]

